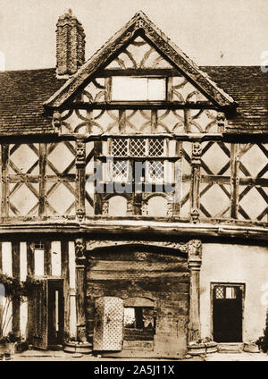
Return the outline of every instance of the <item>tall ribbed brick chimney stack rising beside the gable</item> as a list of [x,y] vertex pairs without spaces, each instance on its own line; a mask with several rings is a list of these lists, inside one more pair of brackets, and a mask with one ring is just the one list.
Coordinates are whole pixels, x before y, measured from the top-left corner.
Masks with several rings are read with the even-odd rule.
[[56,26],[56,73],[72,75],[85,62],[84,29],[71,9],[59,18]]

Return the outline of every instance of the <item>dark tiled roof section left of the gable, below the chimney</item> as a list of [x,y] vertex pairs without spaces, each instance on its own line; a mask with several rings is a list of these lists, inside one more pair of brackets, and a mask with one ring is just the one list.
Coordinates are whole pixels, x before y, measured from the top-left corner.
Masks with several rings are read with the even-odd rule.
[[53,132],[43,103],[64,81],[54,69],[0,72],[0,133]]

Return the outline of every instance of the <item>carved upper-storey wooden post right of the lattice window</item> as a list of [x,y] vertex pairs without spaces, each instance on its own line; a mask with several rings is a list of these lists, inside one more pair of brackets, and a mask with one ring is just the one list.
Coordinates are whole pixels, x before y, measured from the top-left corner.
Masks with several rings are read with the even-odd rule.
[[200,164],[202,147],[200,142],[194,142],[192,146],[192,184],[191,184],[191,222],[199,221],[199,185],[200,185]]

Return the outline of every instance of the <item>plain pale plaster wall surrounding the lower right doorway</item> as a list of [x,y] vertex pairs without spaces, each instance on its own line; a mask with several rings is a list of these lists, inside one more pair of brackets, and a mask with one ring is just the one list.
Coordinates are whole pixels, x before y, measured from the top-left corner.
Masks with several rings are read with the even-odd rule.
[[[200,273],[201,335],[211,335],[211,282],[245,283],[243,341],[263,335],[268,307],[268,248],[205,243]],[[266,291],[266,293],[265,293]]]

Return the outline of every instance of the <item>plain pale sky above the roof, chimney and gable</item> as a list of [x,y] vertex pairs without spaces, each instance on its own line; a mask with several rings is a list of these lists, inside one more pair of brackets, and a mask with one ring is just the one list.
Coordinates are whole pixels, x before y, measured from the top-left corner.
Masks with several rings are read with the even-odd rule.
[[268,0],[0,0],[0,70],[54,67],[55,25],[68,8],[85,29],[86,59],[139,10],[199,65],[260,65],[268,55]]

